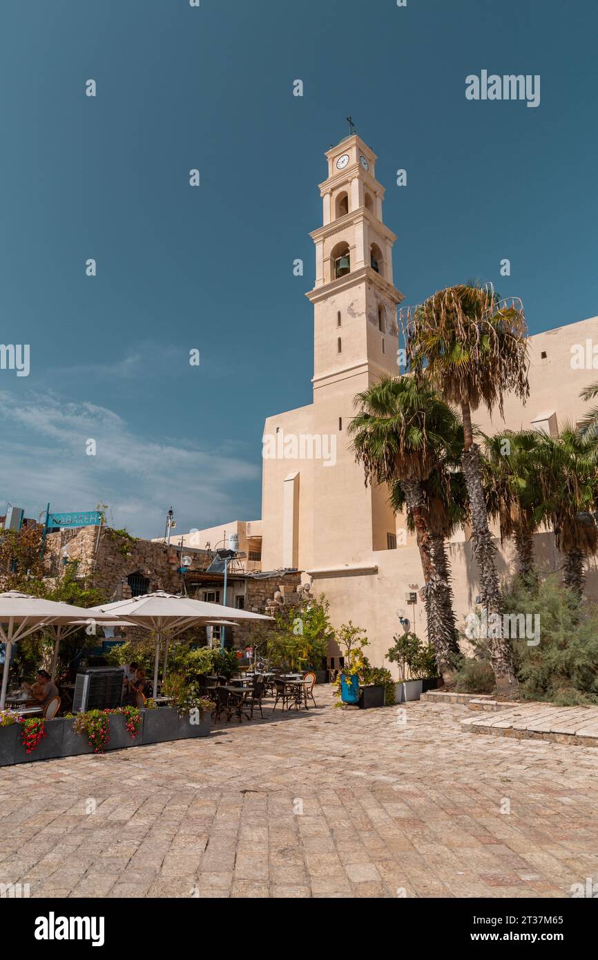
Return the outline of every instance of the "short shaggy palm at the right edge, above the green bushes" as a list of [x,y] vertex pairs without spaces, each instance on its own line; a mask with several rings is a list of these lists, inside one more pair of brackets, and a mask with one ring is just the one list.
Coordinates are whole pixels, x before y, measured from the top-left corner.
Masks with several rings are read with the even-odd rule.
[[542,437],[537,458],[543,523],[564,555],[565,586],[581,597],[586,558],[598,550],[598,444],[567,423],[557,438]]

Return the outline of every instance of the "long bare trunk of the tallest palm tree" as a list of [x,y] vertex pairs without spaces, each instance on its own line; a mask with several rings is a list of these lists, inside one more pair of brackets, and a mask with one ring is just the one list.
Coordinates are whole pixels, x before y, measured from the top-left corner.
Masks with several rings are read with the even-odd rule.
[[[513,653],[509,641],[502,632],[502,596],[496,569],[497,550],[490,534],[480,450],[478,445],[473,443],[471,410],[468,403],[462,404],[462,415],[465,436],[462,464],[471,509],[473,556],[480,577],[482,607],[486,611],[488,622],[490,622],[490,616],[493,621],[496,621],[491,636],[488,637],[490,662],[498,692],[514,693],[518,689],[518,684],[514,673]],[[497,625],[498,618],[501,626]]]

